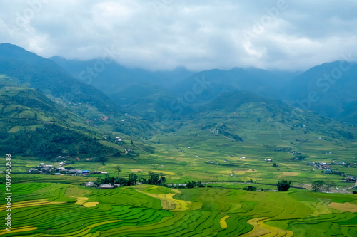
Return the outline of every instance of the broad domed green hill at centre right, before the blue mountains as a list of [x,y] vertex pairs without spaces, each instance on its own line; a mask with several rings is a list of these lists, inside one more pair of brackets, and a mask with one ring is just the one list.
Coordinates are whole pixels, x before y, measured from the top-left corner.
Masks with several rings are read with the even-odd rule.
[[353,144],[357,137],[356,127],[352,125],[292,107],[281,100],[244,91],[222,93],[201,107],[200,112],[189,121],[183,122],[184,125],[176,133],[216,131],[217,135],[233,142],[269,147],[293,146],[298,149],[301,144],[322,143],[318,137],[333,145],[343,141]]

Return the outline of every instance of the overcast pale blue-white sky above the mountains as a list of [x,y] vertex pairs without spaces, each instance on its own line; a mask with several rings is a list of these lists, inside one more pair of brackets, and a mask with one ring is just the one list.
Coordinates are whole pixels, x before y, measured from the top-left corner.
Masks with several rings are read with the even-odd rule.
[[307,70],[357,58],[357,1],[11,0],[0,42],[146,70]]

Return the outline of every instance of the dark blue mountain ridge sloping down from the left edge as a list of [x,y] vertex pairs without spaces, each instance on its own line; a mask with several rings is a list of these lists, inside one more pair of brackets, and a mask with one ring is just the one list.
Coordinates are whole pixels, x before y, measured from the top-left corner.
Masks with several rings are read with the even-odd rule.
[[0,44],[0,74],[16,78],[64,105],[92,104],[104,113],[117,110],[100,90],[75,80],[53,61],[9,43]]

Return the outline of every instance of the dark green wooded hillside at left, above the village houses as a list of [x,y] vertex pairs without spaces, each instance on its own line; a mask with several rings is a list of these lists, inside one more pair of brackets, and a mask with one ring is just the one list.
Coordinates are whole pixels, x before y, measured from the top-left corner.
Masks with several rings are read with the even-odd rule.
[[66,151],[69,156],[114,154],[116,149],[105,147],[95,138],[54,124],[8,134],[1,132],[0,153],[54,159]]

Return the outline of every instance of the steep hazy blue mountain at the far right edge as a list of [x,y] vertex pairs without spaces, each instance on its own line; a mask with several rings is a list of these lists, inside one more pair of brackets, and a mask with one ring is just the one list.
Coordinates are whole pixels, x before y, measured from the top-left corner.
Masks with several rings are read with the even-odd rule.
[[335,61],[317,65],[287,83],[282,93],[293,105],[357,124],[357,65]]

